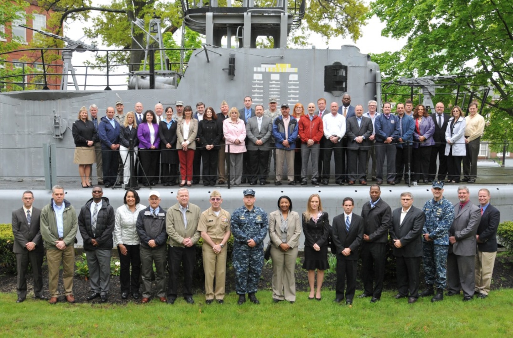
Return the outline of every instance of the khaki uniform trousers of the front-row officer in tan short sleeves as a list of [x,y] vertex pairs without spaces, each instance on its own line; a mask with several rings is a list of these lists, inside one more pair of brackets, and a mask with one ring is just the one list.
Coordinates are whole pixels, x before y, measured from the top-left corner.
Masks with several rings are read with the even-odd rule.
[[[205,298],[223,299],[226,284],[226,253],[228,246],[225,245],[219,254],[215,254],[212,247],[206,242],[202,245],[203,270],[205,271]],[[215,291],[214,291],[215,277]]]

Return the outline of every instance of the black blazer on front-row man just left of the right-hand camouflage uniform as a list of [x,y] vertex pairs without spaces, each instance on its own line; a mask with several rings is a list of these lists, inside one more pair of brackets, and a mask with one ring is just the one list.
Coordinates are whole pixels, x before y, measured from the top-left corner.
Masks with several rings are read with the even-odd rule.
[[398,257],[422,257],[422,227],[426,215],[421,209],[411,206],[401,223],[402,207],[393,210],[392,226],[390,226],[390,238],[401,241],[402,248],[393,246],[393,256]]

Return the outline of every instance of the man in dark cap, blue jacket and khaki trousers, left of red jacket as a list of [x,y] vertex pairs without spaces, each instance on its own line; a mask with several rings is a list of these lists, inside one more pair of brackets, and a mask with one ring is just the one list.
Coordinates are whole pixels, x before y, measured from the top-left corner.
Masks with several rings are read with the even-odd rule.
[[283,163],[286,160],[288,184],[295,185],[294,149],[295,140],[298,138],[299,124],[298,120],[290,116],[290,108],[287,103],[282,104],[281,112],[282,116],[278,116],[272,123],[272,135],[276,146],[276,182],[274,184],[282,184]]

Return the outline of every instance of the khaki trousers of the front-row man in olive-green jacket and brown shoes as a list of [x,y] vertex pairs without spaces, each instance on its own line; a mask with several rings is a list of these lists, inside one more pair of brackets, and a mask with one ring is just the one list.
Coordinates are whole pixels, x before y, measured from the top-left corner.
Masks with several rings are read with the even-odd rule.
[[64,250],[46,250],[48,264],[48,289],[50,297],[58,297],[59,267],[63,265],[64,295],[73,294],[73,273],[75,269],[75,248],[68,245]]

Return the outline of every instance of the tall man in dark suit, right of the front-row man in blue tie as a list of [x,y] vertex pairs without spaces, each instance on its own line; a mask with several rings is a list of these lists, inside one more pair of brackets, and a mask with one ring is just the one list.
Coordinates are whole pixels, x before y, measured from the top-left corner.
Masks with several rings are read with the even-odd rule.
[[[381,299],[385,276],[386,244],[388,229],[392,223],[392,210],[381,199],[381,189],[377,184],[370,186],[370,201],[362,208],[365,230],[362,245],[362,281],[364,291],[358,298],[372,297],[370,302]],[[376,284],[373,287],[373,282]]]

